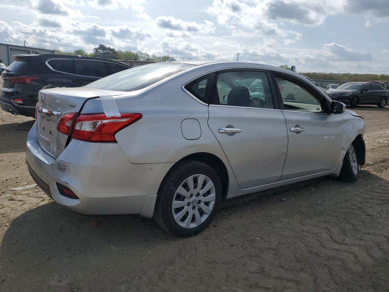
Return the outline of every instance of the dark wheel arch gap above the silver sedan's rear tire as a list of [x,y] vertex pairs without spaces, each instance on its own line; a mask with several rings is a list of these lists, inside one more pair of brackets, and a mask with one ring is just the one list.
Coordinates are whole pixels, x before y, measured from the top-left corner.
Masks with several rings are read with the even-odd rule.
[[195,160],[198,162],[202,162],[203,164],[207,164],[216,172],[217,176],[220,179],[220,183],[222,187],[222,198],[226,199],[228,194],[228,186],[229,186],[229,176],[228,176],[227,167],[219,157],[208,152],[198,152],[198,153],[189,154],[181,158],[175,164],[173,164],[172,167],[170,167],[169,171],[166,173],[161,184],[159,185],[158,193],[160,192],[163,184],[165,183],[170,173],[172,173],[174,169],[176,169],[177,167],[186,163],[189,160]]

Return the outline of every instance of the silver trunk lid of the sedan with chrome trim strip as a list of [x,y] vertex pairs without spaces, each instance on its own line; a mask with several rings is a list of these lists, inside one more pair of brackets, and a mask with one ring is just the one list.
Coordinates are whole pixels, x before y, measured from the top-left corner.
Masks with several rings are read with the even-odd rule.
[[118,91],[96,91],[89,88],[53,88],[39,91],[37,111],[38,142],[58,157],[65,149],[68,135],[57,131],[58,122],[66,113],[79,112],[84,103],[99,95],[121,95]]

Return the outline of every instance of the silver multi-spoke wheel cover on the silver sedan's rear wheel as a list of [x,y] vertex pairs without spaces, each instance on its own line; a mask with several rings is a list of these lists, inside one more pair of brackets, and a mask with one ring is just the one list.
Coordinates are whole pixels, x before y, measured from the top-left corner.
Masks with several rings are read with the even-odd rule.
[[173,218],[181,227],[197,227],[208,218],[215,200],[215,186],[208,176],[204,174],[189,176],[182,181],[174,194]]

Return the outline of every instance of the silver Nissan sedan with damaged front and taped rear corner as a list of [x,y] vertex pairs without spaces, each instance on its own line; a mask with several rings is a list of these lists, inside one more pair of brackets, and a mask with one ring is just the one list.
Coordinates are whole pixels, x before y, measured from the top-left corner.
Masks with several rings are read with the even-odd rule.
[[295,72],[175,61],[41,90],[26,164],[54,201],[140,214],[176,236],[228,199],[319,176],[356,181],[363,118]]

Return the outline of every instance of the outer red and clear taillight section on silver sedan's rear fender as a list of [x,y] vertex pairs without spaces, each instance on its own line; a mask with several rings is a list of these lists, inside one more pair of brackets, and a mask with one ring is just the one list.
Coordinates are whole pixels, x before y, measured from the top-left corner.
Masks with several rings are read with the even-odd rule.
[[105,114],[81,114],[73,123],[72,138],[87,142],[116,142],[115,134],[142,118],[142,114],[121,114],[109,117]]

